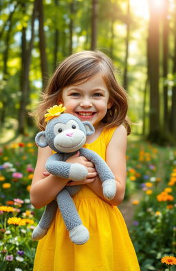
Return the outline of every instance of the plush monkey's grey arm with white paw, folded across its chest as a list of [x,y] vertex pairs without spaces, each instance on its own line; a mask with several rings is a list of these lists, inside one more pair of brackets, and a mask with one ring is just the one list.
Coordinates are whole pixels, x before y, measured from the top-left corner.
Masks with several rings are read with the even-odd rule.
[[62,160],[62,154],[52,154],[45,163],[46,170],[54,176],[72,179],[73,181],[81,181],[87,177],[88,171],[84,165],[67,163]]

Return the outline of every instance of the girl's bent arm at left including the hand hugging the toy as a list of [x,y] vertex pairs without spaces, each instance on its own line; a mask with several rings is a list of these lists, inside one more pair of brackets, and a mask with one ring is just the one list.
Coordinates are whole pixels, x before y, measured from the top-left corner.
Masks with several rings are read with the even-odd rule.
[[[53,199],[55,199],[58,192],[60,192],[68,183],[68,179],[63,179],[49,174],[47,177],[43,174],[45,172],[45,162],[47,158],[52,154],[50,147],[40,148],[38,150],[38,157],[36,162],[36,168],[34,170],[34,177],[32,179],[32,185],[30,189],[30,199],[32,205],[39,209]],[[67,159],[69,163],[81,163],[87,167],[88,175],[87,179],[80,181],[80,184],[85,184],[94,181],[94,177],[97,176],[97,172],[94,168],[94,164],[89,162],[85,157],[79,157],[79,153],[74,154]],[[46,174],[47,175],[47,174]],[[78,182],[76,183],[78,185]]]

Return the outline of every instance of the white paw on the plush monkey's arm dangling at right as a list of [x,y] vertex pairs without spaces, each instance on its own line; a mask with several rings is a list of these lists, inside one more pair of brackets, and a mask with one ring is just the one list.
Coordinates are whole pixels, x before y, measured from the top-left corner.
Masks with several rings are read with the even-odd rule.
[[106,180],[102,183],[102,192],[104,194],[104,198],[110,200],[115,197],[116,193],[116,184],[114,179]]

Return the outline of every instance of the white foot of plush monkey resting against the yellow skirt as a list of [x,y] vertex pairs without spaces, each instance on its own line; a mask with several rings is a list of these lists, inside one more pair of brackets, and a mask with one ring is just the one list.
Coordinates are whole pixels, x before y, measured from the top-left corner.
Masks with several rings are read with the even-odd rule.
[[84,225],[78,225],[69,231],[69,238],[76,245],[83,245],[89,240],[89,231]]

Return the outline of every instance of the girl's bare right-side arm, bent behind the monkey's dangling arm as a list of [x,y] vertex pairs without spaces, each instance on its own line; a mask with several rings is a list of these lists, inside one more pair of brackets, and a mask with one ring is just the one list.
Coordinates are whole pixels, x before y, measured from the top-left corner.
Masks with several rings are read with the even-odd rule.
[[120,205],[124,199],[126,184],[126,141],[126,129],[124,126],[119,126],[107,146],[106,162],[109,168],[111,168],[116,180],[117,192],[115,197],[111,201],[104,198],[102,194],[102,183],[98,177],[96,177],[94,182],[87,184],[100,198],[112,205]]

